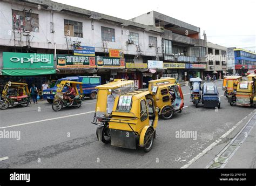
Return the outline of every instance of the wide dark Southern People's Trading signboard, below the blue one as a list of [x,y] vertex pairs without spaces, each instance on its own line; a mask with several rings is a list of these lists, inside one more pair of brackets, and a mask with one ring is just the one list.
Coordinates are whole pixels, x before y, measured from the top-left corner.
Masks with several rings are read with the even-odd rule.
[[95,57],[58,54],[57,68],[96,68]]

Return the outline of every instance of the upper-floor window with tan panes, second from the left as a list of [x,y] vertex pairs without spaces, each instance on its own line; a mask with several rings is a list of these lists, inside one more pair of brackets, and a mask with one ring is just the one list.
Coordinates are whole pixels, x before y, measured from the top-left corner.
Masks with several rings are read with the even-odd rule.
[[83,37],[83,23],[64,19],[65,36]]

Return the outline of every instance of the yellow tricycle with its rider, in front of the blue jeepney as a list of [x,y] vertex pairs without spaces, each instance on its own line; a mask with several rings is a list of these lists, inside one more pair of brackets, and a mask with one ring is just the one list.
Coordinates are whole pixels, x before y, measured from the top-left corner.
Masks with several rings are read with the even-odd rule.
[[[63,106],[79,108],[82,105],[82,84],[82,82],[78,81],[61,81],[58,85],[56,95],[52,103],[53,111],[60,111]],[[80,94],[77,86],[80,88]],[[75,91],[75,93],[70,94],[70,91]]]

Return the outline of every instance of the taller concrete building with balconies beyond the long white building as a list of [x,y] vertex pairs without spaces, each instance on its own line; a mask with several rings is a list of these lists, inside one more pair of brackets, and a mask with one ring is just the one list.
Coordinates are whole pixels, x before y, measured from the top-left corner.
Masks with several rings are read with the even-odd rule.
[[164,30],[163,60],[167,74],[178,74],[179,80],[191,77],[203,78],[206,69],[206,37],[200,39],[200,27],[182,22],[156,11],[130,19],[133,22],[152,25]]

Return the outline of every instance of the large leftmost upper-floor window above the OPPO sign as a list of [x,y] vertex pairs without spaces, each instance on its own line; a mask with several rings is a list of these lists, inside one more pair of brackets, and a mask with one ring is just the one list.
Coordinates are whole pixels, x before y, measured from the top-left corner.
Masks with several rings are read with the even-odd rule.
[[12,10],[12,29],[39,32],[38,14],[31,11]]

